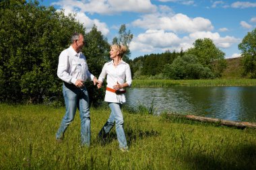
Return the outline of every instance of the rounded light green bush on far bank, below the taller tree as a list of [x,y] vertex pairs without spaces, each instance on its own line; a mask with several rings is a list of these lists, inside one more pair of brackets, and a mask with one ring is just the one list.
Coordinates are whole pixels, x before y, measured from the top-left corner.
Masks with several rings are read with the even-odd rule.
[[172,64],[165,65],[163,69],[165,77],[169,79],[212,79],[212,71],[203,67],[197,61],[197,57],[185,54],[175,58]]

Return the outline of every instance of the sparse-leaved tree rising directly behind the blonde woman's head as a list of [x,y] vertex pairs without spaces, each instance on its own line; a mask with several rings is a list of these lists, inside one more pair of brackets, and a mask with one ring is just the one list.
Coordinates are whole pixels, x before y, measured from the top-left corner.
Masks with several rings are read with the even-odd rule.
[[132,39],[133,34],[131,34],[130,30],[127,32],[125,24],[121,25],[119,29],[119,37],[113,38],[112,44],[123,44],[127,46],[127,52],[123,55],[123,60],[126,62],[129,61],[129,56],[131,55],[131,51],[129,50],[129,44]]

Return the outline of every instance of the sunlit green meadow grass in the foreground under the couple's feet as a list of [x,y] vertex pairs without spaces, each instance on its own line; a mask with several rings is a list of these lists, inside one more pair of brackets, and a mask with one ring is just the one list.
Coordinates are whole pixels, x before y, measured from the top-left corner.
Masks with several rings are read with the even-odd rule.
[[96,140],[108,108],[91,109],[90,148],[79,144],[78,112],[63,142],[56,142],[64,112],[0,104],[0,169],[256,169],[255,129],[124,110],[129,153],[122,153],[115,129],[106,144]]

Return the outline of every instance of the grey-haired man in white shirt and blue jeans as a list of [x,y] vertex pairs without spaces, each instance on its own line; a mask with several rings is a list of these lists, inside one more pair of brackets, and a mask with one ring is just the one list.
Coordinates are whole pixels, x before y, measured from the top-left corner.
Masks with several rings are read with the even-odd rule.
[[75,33],[71,37],[71,42],[71,46],[59,55],[57,75],[64,82],[63,96],[66,112],[57,131],[56,139],[57,141],[63,140],[65,130],[73,121],[78,108],[81,119],[81,142],[82,145],[90,146],[89,97],[84,82],[90,80],[96,85],[98,79],[88,71],[86,57],[81,52],[84,46],[84,36]]

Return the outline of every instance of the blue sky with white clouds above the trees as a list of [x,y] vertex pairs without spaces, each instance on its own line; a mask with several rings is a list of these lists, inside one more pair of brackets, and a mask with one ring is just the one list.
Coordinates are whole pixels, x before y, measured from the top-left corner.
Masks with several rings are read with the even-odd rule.
[[131,59],[166,50],[187,50],[211,38],[225,58],[241,53],[238,44],[256,28],[256,1],[44,0],[42,5],[76,13],[87,32],[94,24],[112,42],[125,24],[133,40]]

